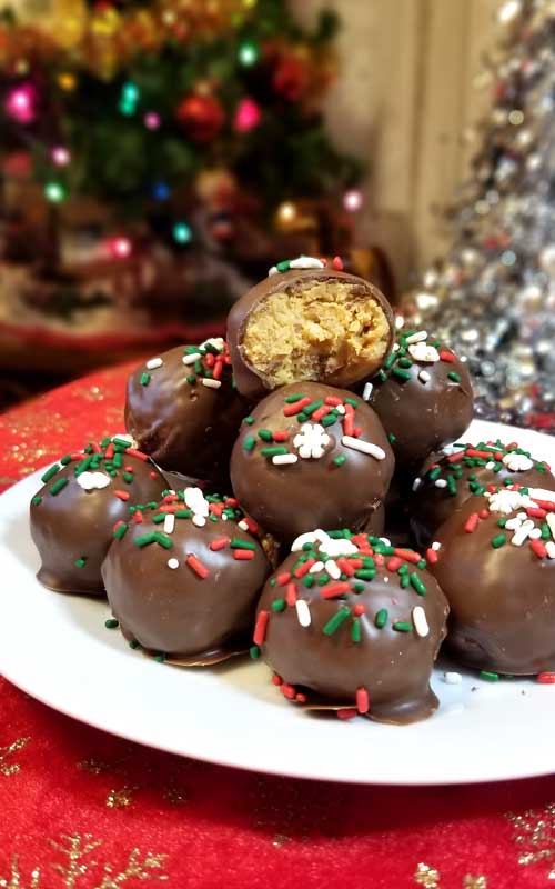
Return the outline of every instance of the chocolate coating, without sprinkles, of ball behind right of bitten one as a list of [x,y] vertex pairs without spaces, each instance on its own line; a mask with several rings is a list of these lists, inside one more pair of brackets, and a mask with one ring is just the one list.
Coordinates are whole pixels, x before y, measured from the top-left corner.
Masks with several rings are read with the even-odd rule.
[[[400,346],[402,336],[397,334]],[[387,374],[386,379],[379,374],[372,380],[370,403],[385,431],[395,436],[392,447],[397,468],[415,472],[432,451],[455,441],[467,429],[474,397],[468,371],[458,359],[425,362],[410,354],[407,359],[413,362],[408,368],[384,366],[381,374]],[[389,361],[392,360],[393,354]],[[408,379],[396,376],[395,370],[407,373]],[[427,382],[420,379],[422,371],[430,374]],[[458,374],[461,380],[450,379],[450,373]]]

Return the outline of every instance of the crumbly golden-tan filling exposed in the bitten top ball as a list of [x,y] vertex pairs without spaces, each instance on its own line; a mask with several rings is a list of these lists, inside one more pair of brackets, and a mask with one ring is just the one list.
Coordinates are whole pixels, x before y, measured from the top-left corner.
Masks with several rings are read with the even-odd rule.
[[350,382],[381,366],[390,324],[359,284],[310,281],[272,293],[243,331],[244,357],[272,388],[296,380]]

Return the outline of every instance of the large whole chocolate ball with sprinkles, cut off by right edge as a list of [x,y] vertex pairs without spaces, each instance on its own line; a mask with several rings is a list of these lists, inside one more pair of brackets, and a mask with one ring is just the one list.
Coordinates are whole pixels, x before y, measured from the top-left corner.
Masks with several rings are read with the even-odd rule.
[[555,495],[527,490],[473,497],[436,531],[431,570],[451,606],[447,646],[466,667],[555,670]]

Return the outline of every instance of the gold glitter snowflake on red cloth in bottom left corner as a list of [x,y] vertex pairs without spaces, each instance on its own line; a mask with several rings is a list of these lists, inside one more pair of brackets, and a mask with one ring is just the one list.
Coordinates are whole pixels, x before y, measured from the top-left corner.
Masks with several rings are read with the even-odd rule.
[[[88,875],[94,880],[93,889],[119,889],[130,882],[130,889],[135,881],[167,880],[168,875],[161,872],[164,867],[165,855],[141,852],[132,849],[123,865],[111,861],[100,861],[97,857],[103,840],[94,839],[91,833],[62,833],[58,840],[50,840],[56,860],[41,863],[30,872],[29,877],[19,869],[19,859],[14,855],[8,877],[0,877],[1,889],[40,889],[41,875],[49,873],[44,887],[52,889],[79,889],[82,879]],[[94,857],[91,857],[92,853]],[[52,883],[51,871],[59,875]]]

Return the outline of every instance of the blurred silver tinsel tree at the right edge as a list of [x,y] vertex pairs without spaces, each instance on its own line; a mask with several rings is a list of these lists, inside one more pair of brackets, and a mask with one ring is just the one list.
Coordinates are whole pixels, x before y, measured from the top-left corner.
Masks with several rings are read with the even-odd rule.
[[504,0],[498,19],[453,246],[408,309],[466,357],[478,416],[555,433],[555,2]]

